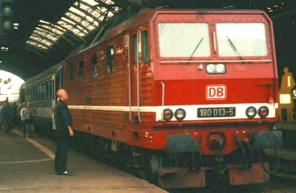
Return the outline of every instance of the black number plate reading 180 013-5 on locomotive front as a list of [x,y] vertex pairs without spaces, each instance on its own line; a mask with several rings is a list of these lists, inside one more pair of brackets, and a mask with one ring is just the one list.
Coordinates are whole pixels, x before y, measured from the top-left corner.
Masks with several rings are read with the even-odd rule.
[[198,108],[197,117],[234,117],[235,107]]

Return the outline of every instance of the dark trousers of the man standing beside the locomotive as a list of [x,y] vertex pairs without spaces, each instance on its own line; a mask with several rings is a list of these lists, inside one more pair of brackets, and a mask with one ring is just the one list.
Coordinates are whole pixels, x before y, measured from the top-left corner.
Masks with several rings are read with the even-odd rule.
[[67,170],[67,155],[68,155],[68,129],[61,129],[57,131],[57,149],[54,160],[54,171],[62,173]]

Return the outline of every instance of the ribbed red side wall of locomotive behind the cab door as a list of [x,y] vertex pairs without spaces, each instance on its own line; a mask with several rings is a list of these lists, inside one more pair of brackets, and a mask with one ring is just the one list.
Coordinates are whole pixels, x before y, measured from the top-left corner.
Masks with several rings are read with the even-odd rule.
[[[112,66],[108,49],[114,55]],[[70,63],[76,63],[72,83],[70,65],[66,73],[69,108],[75,117],[79,116],[74,120],[74,129],[104,137],[110,137],[116,129],[124,129],[122,107],[126,105],[127,77],[122,36],[79,54]]]

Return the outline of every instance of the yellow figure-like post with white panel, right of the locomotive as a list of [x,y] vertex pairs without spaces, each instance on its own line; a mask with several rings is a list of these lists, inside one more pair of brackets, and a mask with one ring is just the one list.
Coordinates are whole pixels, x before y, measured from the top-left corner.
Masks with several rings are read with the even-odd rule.
[[[294,101],[292,97],[292,89],[295,86],[293,74],[289,72],[288,67],[284,67],[281,88],[279,92],[279,121],[294,122],[293,108]],[[287,111],[287,119],[284,119],[283,111]]]

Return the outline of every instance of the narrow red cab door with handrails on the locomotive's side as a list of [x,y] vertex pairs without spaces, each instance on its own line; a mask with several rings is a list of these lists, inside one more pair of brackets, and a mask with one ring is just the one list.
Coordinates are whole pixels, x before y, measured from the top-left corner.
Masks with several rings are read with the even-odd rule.
[[130,121],[141,122],[140,112],[140,53],[141,31],[131,32],[129,36],[129,101]]

